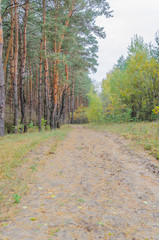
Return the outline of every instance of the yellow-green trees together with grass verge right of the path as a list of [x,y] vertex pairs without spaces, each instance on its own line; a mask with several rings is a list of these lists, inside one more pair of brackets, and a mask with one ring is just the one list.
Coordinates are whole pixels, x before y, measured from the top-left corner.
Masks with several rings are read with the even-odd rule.
[[159,32],[155,44],[134,36],[103,79],[101,93],[91,89],[85,115],[91,127],[133,139],[159,159]]

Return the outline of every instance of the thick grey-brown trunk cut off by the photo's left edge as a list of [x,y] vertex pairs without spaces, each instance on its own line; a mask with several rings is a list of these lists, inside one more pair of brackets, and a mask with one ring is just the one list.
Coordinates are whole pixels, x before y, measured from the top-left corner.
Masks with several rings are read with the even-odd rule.
[[5,83],[4,71],[2,67],[2,52],[3,52],[3,28],[1,18],[1,0],[0,0],[0,136],[4,136],[5,127]]

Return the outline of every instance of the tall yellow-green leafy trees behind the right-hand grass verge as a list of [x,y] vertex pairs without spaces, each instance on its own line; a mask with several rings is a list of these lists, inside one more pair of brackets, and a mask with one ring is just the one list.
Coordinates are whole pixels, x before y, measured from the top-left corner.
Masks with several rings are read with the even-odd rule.
[[128,57],[118,60],[102,82],[106,121],[154,120],[159,103],[159,64],[141,37],[135,36]]

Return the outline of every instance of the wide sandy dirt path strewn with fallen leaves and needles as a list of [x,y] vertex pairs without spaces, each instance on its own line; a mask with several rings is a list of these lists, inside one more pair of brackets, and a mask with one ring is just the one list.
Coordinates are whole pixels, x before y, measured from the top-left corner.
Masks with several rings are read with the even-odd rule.
[[159,240],[159,163],[114,133],[73,126],[29,189],[0,240]]

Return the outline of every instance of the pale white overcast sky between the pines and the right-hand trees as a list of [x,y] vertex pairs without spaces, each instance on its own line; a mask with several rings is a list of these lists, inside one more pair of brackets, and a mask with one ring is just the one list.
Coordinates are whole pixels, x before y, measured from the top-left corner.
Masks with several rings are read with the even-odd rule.
[[99,39],[99,66],[91,77],[98,82],[105,78],[121,55],[126,56],[131,38],[138,34],[145,42],[154,42],[159,30],[159,0],[108,0],[114,17],[101,17],[97,24],[105,28],[107,37]]

